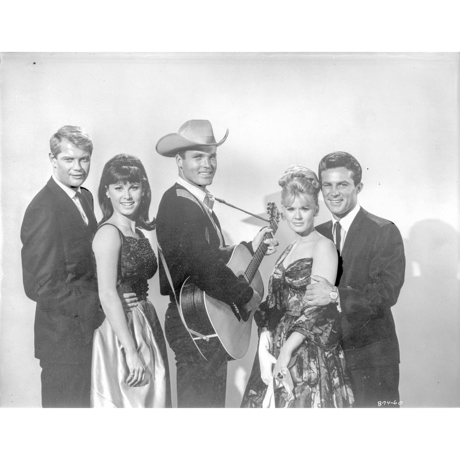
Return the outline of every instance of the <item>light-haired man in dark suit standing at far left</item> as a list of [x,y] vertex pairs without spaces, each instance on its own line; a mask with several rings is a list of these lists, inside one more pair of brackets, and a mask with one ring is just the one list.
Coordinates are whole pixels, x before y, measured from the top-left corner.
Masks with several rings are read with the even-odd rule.
[[93,197],[81,187],[93,143],[81,128],[63,126],[50,148],[53,176],[22,222],[22,275],[27,296],[37,302],[42,406],[89,407],[93,333],[104,318],[91,250]]

